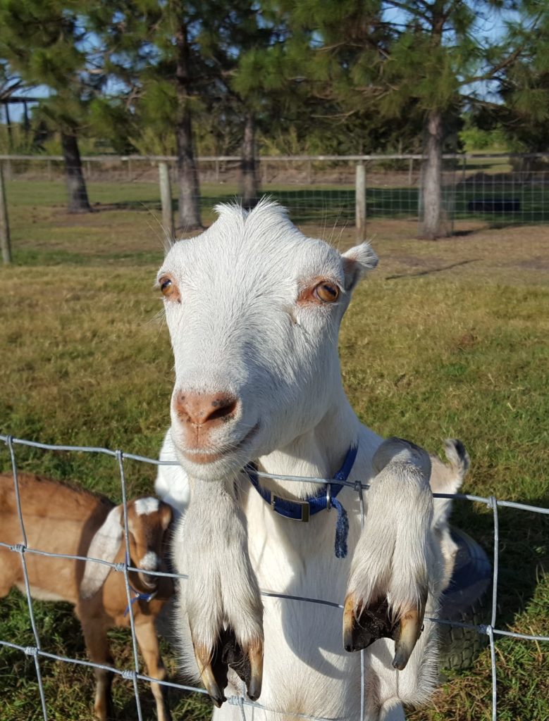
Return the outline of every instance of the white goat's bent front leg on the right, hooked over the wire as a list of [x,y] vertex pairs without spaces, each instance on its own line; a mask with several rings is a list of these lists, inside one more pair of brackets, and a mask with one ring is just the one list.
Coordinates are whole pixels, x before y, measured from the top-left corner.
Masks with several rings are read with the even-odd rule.
[[377,449],[372,466],[376,475],[343,611],[343,645],[358,651],[391,638],[392,665],[402,671],[422,631],[434,572],[431,461],[422,448],[390,438]]

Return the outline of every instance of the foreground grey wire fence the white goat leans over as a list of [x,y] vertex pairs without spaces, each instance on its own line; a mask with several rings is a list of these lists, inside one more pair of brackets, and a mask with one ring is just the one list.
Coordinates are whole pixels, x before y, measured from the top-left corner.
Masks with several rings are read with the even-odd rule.
[[[180,574],[174,574],[174,573],[167,573],[167,572],[159,572],[159,571],[144,571],[143,569],[137,569],[136,567],[133,567],[129,563],[129,536],[128,536],[128,521],[127,521],[127,503],[128,499],[126,496],[126,474],[125,474],[125,461],[126,460],[132,460],[132,461],[139,461],[144,464],[152,464],[155,466],[159,465],[177,465],[176,463],[172,461],[158,461],[155,459],[149,459],[144,456],[139,456],[136,454],[128,454],[120,450],[110,450],[109,448],[95,448],[95,447],[89,447],[89,446],[59,446],[59,445],[51,445],[47,443],[37,443],[35,441],[27,441],[20,438],[13,438],[11,435],[0,435],[0,441],[2,441],[8,451],[9,456],[11,460],[12,465],[12,474],[14,478],[14,490],[16,494],[17,499],[17,513],[19,516],[19,526],[21,529],[21,538],[22,541],[19,544],[12,544],[7,543],[6,541],[3,541],[1,539],[1,529],[0,529],[0,547],[3,547],[4,549],[9,549],[9,551],[19,554],[19,557],[22,562],[22,569],[23,574],[25,578],[25,591],[26,591],[26,598],[27,598],[27,606],[29,610],[29,619],[30,624],[32,627],[32,634],[34,636],[35,645],[32,646],[22,646],[17,644],[16,640],[4,640],[0,639],[0,647],[9,647],[14,650],[19,650],[21,653],[26,654],[27,656],[30,656],[34,659],[35,668],[36,668],[36,676],[38,680],[38,689],[39,689],[39,696],[40,696],[40,705],[42,707],[43,712],[43,719],[44,721],[48,721],[48,711],[46,707],[46,699],[45,699],[45,691],[44,691],[44,685],[43,685],[43,679],[42,674],[40,671],[40,659],[50,659],[50,660],[56,660],[61,661],[63,663],[72,663],[77,665],[83,665],[87,667],[92,668],[101,668],[105,671],[112,671],[113,673],[117,674],[118,676],[121,676],[122,678],[125,678],[129,681],[132,681],[133,683],[133,691],[135,696],[135,702],[136,702],[136,714],[139,721],[143,720],[143,713],[141,710],[141,701],[139,698],[139,688],[138,688],[138,681],[148,681],[154,682],[157,684],[161,684],[162,686],[167,686],[173,689],[179,689],[180,691],[195,691],[198,694],[206,694],[206,691],[204,689],[198,688],[196,686],[185,686],[184,684],[177,684],[173,681],[159,681],[156,678],[151,678],[150,676],[146,676],[146,674],[141,673],[140,671],[140,665],[139,665],[139,655],[137,652],[137,642],[136,642],[136,632],[135,627],[133,624],[133,606],[131,603],[131,588],[128,582],[128,572],[130,571],[137,571],[141,573],[149,573],[150,575],[164,575],[164,576],[170,576],[171,578],[177,579],[182,578],[186,579],[188,578],[187,575],[180,575]],[[18,479],[17,479],[17,454],[15,451],[16,446],[27,446],[31,448],[38,448],[42,449],[43,451],[70,451],[70,452],[76,452],[80,451],[83,453],[90,453],[90,454],[105,454],[107,456],[112,456],[113,460],[118,466],[118,473],[120,474],[120,488],[121,488],[121,496],[123,501],[123,507],[124,507],[124,539],[126,542],[126,562],[124,563],[110,563],[102,559],[92,559],[94,562],[102,563],[105,565],[110,566],[115,572],[122,572],[125,578],[126,582],[126,594],[128,598],[128,609],[129,609],[129,615],[130,615],[130,622],[131,622],[131,643],[132,643],[132,654],[133,654],[133,664],[132,668],[116,668],[113,666],[107,666],[107,665],[101,665],[98,663],[92,663],[91,661],[86,661],[82,659],[77,658],[68,658],[66,656],[58,655],[55,653],[48,653],[47,651],[43,650],[40,644],[40,634],[38,632],[38,626],[35,620],[35,613],[33,611],[33,605],[32,605],[32,596],[30,591],[30,582],[29,577],[27,573],[27,565],[25,562],[25,554],[38,554],[40,556],[44,557],[58,557],[58,558],[66,558],[66,559],[76,559],[76,560],[87,560],[89,557],[86,556],[74,556],[69,554],[55,554],[47,552],[43,549],[38,548],[30,548],[27,545],[27,533],[25,531],[25,519],[23,518],[22,514],[22,508],[21,503],[19,499],[19,486],[18,486]],[[263,472],[258,472],[258,475],[260,477],[265,478],[271,478],[271,479],[278,479],[278,480],[288,480],[288,481],[294,481],[294,482],[313,482],[318,485],[325,485],[330,482],[330,479],[322,479],[322,478],[304,478],[299,476],[278,476],[273,474],[267,474]],[[361,508],[361,523],[364,526],[364,518],[365,518],[365,512],[364,512],[364,495],[363,492],[367,491],[369,486],[362,483],[360,480],[355,481],[338,481],[339,483],[346,485],[347,487],[352,488],[359,496],[360,500],[360,508]],[[454,622],[454,621],[446,621],[443,619],[436,619],[436,618],[427,618],[425,619],[425,622],[427,623],[437,623],[437,624],[448,624],[449,626],[455,626],[455,627],[461,627],[464,629],[473,629],[479,634],[486,635],[488,637],[488,641],[490,644],[490,650],[491,650],[491,676],[492,676],[492,711],[491,711],[491,717],[493,721],[497,720],[498,714],[497,714],[497,668],[496,668],[496,647],[494,645],[494,640],[496,637],[513,637],[516,639],[521,640],[531,640],[534,642],[549,642],[549,636],[543,636],[543,635],[537,635],[537,634],[522,634],[517,632],[511,632],[506,631],[504,629],[499,629],[496,627],[496,620],[497,620],[497,601],[498,601],[498,582],[499,582],[499,520],[498,520],[498,509],[499,508],[514,508],[516,510],[524,510],[529,511],[531,513],[540,513],[545,514],[549,516],[549,508],[541,508],[537,506],[532,505],[525,505],[523,503],[515,503],[514,501],[506,501],[506,500],[498,500],[494,496],[490,497],[481,497],[476,495],[469,495],[469,494],[440,494],[435,493],[434,497],[439,498],[452,498],[456,500],[467,500],[474,503],[481,503],[483,505],[486,505],[489,509],[491,509],[493,514],[493,585],[492,585],[492,599],[491,599],[491,615],[489,622],[487,624],[466,624],[461,622]],[[307,598],[304,596],[290,596],[285,593],[277,593],[273,590],[268,589],[262,589],[261,590],[262,596],[265,597],[274,597],[274,598],[281,598],[286,600],[292,600],[292,601],[300,601],[302,603],[317,603],[322,604],[325,606],[331,606],[336,609],[343,609],[343,605],[339,603],[334,603],[332,601],[326,601],[322,598]],[[364,683],[364,651],[361,652],[361,678],[360,678],[360,688],[361,688],[361,715],[360,719],[361,721],[364,721],[364,714],[365,714],[365,683]],[[264,707],[262,704],[258,702],[252,702],[250,699],[247,699],[244,695],[244,689],[242,691],[242,694],[239,696],[230,696],[227,699],[227,702],[231,705],[240,707],[240,715],[242,720],[247,719],[247,710],[252,711],[252,709],[260,709],[264,712],[272,712],[273,714],[280,714],[279,711],[274,711],[273,709],[268,709]],[[333,718],[326,718],[326,717],[318,717],[318,716],[309,716],[306,714],[301,713],[294,713],[294,712],[285,712],[286,716],[301,718],[301,719],[309,719],[311,721],[348,721],[348,720],[335,720]],[[251,718],[251,716],[250,716]]]

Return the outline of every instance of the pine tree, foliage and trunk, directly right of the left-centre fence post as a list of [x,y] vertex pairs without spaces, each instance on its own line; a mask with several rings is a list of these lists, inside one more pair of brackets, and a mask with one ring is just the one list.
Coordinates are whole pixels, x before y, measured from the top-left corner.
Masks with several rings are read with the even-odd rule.
[[[201,227],[193,123],[218,88],[221,38],[228,6],[222,0],[113,0],[100,33],[110,73],[126,86],[141,127],[175,130],[178,227]],[[222,54],[222,53],[221,53]]]

